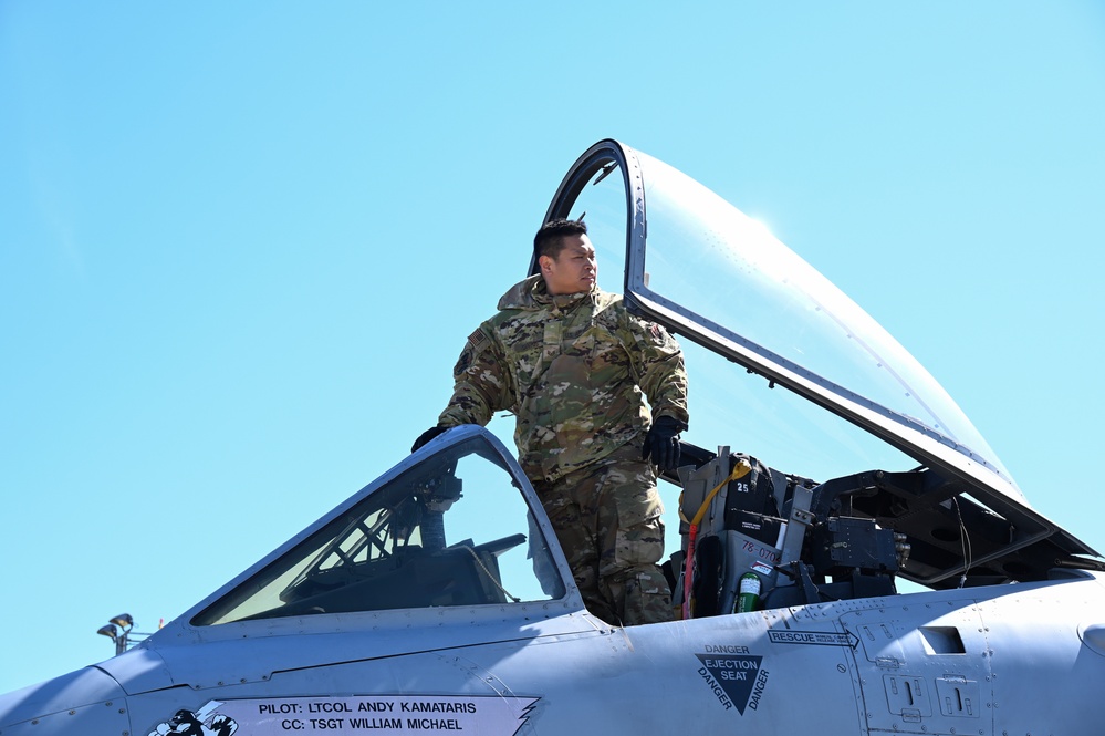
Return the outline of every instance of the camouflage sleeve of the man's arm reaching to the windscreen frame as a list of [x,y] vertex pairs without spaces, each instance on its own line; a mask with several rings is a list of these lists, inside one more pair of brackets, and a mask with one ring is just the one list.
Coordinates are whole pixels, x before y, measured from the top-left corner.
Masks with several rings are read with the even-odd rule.
[[502,349],[487,324],[469,335],[452,369],[452,397],[438,417],[439,426],[486,425],[496,412],[510,408],[510,374]]

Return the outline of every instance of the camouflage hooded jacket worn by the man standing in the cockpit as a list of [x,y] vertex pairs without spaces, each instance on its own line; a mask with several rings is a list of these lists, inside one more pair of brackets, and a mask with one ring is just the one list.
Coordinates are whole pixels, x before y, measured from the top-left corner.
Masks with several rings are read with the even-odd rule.
[[642,445],[651,415],[687,423],[682,352],[658,324],[597,289],[550,296],[540,274],[499,300],[468,338],[439,425],[517,417],[519,460],[534,479],[556,478],[618,447]]

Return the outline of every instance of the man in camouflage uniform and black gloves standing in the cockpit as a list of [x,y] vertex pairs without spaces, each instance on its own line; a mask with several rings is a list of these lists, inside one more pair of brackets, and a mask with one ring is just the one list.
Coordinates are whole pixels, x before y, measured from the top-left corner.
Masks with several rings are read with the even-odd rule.
[[[534,238],[541,273],[512,287],[468,338],[438,425],[517,417],[519,462],[567,556],[584,602],[608,623],[671,618],[663,505],[649,457],[679,458],[687,428],[682,352],[659,325],[596,287],[582,221],[548,222]],[[651,412],[646,407],[647,396]]]

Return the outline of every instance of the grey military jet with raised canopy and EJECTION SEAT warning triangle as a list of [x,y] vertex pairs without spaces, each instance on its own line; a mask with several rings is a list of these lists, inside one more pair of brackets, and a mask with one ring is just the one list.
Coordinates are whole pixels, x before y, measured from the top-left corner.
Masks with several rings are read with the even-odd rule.
[[457,427],[129,651],[0,697],[0,736],[1099,732],[1101,556],[893,338],[616,141],[557,217],[679,335],[694,436],[740,443],[665,476],[673,621],[591,615],[511,453]]

